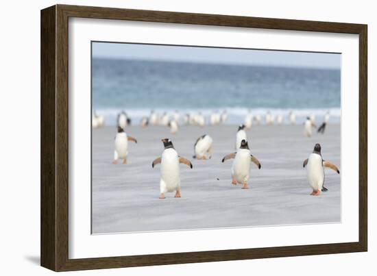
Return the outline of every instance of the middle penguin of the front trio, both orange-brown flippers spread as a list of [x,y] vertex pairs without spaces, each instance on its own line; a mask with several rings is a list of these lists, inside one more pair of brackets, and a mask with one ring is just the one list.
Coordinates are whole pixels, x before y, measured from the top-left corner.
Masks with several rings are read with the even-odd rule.
[[246,140],[241,141],[241,147],[235,153],[226,155],[221,162],[234,158],[232,165],[232,184],[243,184],[243,189],[248,189],[247,181],[250,177],[251,162],[256,164],[260,169],[260,162],[250,153],[249,146]]

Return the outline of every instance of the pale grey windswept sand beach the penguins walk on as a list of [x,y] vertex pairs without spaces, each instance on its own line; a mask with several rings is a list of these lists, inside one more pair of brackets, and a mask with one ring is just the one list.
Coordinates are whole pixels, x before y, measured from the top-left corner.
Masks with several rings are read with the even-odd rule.
[[[302,125],[253,126],[247,130],[252,154],[262,168],[252,165],[249,190],[230,184],[237,127],[219,125],[126,129],[138,140],[130,143],[128,164],[112,164],[115,127],[93,129],[93,234],[128,231],[162,231],[217,227],[247,227],[341,221],[341,177],[326,168],[328,192],[310,196],[302,162],[316,142],[322,156],[341,171],[340,125],[328,125],[324,135],[303,136]],[[193,145],[202,134],[212,136],[211,160],[195,160]],[[193,162],[181,164],[182,198],[167,193],[158,199],[160,168],[151,162],[163,150],[161,138],[171,138],[178,154]],[[219,180],[217,180],[219,179]]]

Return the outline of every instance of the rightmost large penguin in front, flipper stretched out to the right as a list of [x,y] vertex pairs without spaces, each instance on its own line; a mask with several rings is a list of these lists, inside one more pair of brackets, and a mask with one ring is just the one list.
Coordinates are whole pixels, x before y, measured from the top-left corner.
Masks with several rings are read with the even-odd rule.
[[331,168],[339,174],[337,166],[330,161],[322,159],[321,145],[315,144],[313,153],[309,155],[309,158],[304,161],[304,168],[306,167],[306,175],[308,177],[308,183],[313,189],[311,195],[319,195],[322,192],[326,192],[328,189],[324,187],[325,171],[324,167]]

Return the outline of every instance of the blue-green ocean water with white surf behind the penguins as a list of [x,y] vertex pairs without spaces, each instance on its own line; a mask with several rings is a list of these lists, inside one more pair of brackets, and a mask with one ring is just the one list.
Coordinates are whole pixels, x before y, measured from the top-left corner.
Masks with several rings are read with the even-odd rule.
[[227,123],[253,114],[290,110],[303,121],[330,111],[339,123],[341,72],[336,69],[284,68],[93,58],[93,110],[114,125],[125,110],[136,123],[151,110],[181,114],[226,110]]

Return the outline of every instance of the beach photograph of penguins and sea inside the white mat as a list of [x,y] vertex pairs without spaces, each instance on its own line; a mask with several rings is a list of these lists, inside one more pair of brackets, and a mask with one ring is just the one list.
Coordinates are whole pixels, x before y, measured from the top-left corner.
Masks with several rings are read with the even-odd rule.
[[91,42],[92,234],[341,223],[341,53]]

